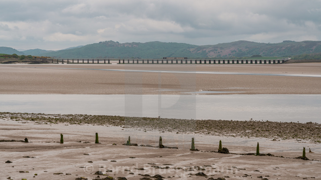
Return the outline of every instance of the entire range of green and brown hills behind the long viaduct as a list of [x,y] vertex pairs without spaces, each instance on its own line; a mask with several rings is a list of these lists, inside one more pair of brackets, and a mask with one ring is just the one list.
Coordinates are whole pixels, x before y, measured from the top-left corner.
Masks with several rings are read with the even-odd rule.
[[[2,48],[2,49],[1,49]],[[104,41],[85,46],[70,47],[58,51],[32,49],[19,52],[13,48],[0,47],[0,53],[18,55],[50,56],[56,58],[236,58],[261,55],[264,57],[318,57],[321,41],[283,41],[282,43],[256,43],[236,41],[217,45],[190,45],[185,43],[118,43]],[[313,54],[298,56],[302,54]]]

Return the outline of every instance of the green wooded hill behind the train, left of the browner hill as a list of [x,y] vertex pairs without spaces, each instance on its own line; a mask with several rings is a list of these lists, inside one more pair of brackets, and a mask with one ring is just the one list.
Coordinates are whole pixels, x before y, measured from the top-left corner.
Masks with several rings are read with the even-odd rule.
[[205,53],[192,53],[189,49],[198,47],[185,43],[118,43],[104,41],[80,48],[60,50],[42,54],[63,58],[162,58],[171,56],[205,57]]

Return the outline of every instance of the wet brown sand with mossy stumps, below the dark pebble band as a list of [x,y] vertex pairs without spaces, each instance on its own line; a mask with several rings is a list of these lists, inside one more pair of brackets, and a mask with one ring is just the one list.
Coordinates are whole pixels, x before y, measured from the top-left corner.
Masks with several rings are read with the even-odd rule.
[[[164,177],[162,179],[173,180],[207,180],[212,177],[214,179],[219,177],[225,179],[321,178],[320,144],[307,141],[289,139],[272,141],[267,138],[184,134],[86,123],[79,125],[36,123],[14,119],[1,119],[0,129],[0,139],[23,140],[25,137],[29,139],[29,143],[0,142],[2,161],[0,162],[0,177],[2,179],[7,177],[15,180],[80,177],[95,179],[97,178],[97,175],[94,175],[96,171],[102,171],[115,179],[126,177],[128,180],[143,178],[138,174],[150,176],[159,174]],[[96,132],[101,144],[94,143]],[[64,135],[63,144],[58,143],[60,133]],[[178,149],[121,145],[126,143],[128,136],[131,136],[131,143],[152,146],[157,146],[159,136],[162,136],[163,145],[178,147]],[[192,137],[195,138],[195,148],[200,151],[189,151]],[[210,152],[217,151],[220,140],[222,140],[222,146],[232,153],[255,153],[256,143],[259,142],[260,153],[271,153],[285,158]],[[113,143],[117,145],[112,145]],[[307,148],[306,154],[310,160],[293,159],[302,156],[303,147]],[[314,153],[308,153],[309,148]],[[23,156],[35,158],[24,158]],[[7,160],[12,163],[5,163]],[[152,166],[168,168],[160,169]],[[130,171],[125,171],[125,169]],[[112,170],[112,172],[106,172],[107,170]],[[203,172],[207,176],[196,176],[198,172]],[[33,177],[34,174],[37,176]],[[100,175],[100,178],[105,178],[107,175]]]

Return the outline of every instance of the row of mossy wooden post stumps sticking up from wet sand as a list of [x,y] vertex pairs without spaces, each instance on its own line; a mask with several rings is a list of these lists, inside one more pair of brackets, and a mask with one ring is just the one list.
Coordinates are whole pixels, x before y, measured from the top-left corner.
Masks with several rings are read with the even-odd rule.
[[[25,138],[25,142],[28,143],[28,139]],[[63,134],[60,134],[60,143],[64,143],[64,135]],[[96,133],[96,139],[95,139],[95,143],[96,144],[100,144],[99,141],[98,141],[98,133]],[[128,140],[126,142],[126,144],[124,145],[131,145],[130,143],[130,136],[128,136]],[[159,148],[164,148],[164,145],[163,145],[163,140],[162,140],[162,137],[160,136],[160,139],[159,139],[159,144],[158,144],[158,147]],[[192,137],[192,145],[191,145],[191,149],[190,151],[199,151],[198,149],[195,149],[195,142],[194,142],[194,137]],[[220,143],[219,143],[219,149],[218,149],[218,152],[219,153],[229,153],[229,150],[225,147],[222,148],[222,141],[220,140]],[[311,152],[311,150],[309,151]],[[259,143],[257,142],[257,145],[256,145],[256,156],[260,156],[260,147],[259,147]],[[305,154],[305,147],[303,147],[303,154],[302,156],[298,157],[297,159],[303,159],[303,160],[309,160],[307,157],[306,157],[306,154]]]

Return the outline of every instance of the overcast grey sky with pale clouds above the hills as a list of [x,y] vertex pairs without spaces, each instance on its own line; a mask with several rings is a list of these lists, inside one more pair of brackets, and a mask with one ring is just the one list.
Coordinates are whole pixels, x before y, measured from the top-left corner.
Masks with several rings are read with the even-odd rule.
[[0,46],[321,40],[321,0],[0,0]]

